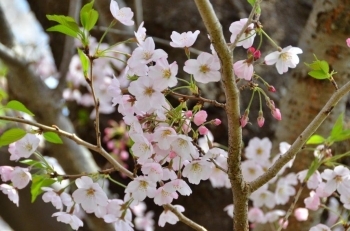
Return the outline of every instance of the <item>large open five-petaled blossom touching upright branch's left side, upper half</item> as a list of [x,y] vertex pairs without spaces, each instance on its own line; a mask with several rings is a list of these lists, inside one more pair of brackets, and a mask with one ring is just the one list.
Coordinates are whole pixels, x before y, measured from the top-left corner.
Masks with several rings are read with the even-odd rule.
[[197,59],[187,60],[183,69],[200,83],[218,82],[221,79],[219,60],[207,52],[202,52]]

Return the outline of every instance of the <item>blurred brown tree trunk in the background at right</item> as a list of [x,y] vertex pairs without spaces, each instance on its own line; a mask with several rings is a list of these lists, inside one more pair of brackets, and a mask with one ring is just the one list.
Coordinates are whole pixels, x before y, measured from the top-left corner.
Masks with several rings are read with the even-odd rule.
[[[279,103],[283,119],[276,128],[274,153],[278,152],[280,142],[292,143],[335,92],[334,86],[328,80],[315,80],[308,76],[310,69],[303,62],[311,63],[315,54],[319,60],[326,60],[330,64],[330,70],[338,72],[334,79],[339,86],[349,81],[350,49],[346,47],[345,42],[350,32],[350,24],[347,23],[350,20],[349,12],[349,0],[318,0],[314,3],[298,45],[304,51],[301,63],[291,72],[288,89]],[[345,111],[345,103],[346,98],[333,109],[317,134],[329,134],[339,114]],[[290,171],[297,173],[308,169],[313,159],[311,152],[299,153]],[[307,196],[309,190],[304,189],[296,208],[305,207],[303,201]],[[291,216],[286,230],[306,231],[319,220],[319,214],[310,214],[305,222],[296,221]],[[259,226],[255,230],[269,229],[270,227]]]

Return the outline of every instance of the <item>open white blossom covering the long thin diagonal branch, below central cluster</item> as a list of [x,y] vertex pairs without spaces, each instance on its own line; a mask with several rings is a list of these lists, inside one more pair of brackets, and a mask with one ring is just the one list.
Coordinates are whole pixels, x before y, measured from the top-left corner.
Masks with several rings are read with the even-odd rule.
[[143,201],[146,196],[153,198],[156,194],[156,182],[146,176],[138,176],[128,184],[125,192],[130,193],[137,201]]

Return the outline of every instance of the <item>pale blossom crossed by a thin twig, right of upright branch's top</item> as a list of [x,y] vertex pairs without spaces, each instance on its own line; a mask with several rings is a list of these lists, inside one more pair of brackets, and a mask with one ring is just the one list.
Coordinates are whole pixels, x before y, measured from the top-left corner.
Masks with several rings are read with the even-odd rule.
[[[233,22],[230,25],[230,32],[232,33],[230,41],[231,43],[233,43],[238,34],[242,31],[244,25],[247,23],[248,19],[247,18],[243,18],[237,22]],[[254,38],[255,38],[255,30],[254,30],[254,24],[251,23],[248,25],[247,29],[244,31],[244,33],[242,34],[242,36],[239,38],[239,41],[237,43],[237,46],[243,46],[244,48],[248,49],[249,47],[251,47],[253,45],[254,42]]]

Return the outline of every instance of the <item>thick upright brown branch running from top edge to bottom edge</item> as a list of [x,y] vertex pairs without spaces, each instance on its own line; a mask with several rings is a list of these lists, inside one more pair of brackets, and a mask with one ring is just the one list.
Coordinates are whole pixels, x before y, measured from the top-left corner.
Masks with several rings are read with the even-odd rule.
[[234,230],[248,231],[249,187],[241,169],[242,129],[240,126],[239,90],[232,71],[232,50],[226,45],[221,24],[209,0],[195,0],[198,11],[210,35],[221,62],[222,86],[226,96],[228,122],[228,175],[232,185],[235,216]]

